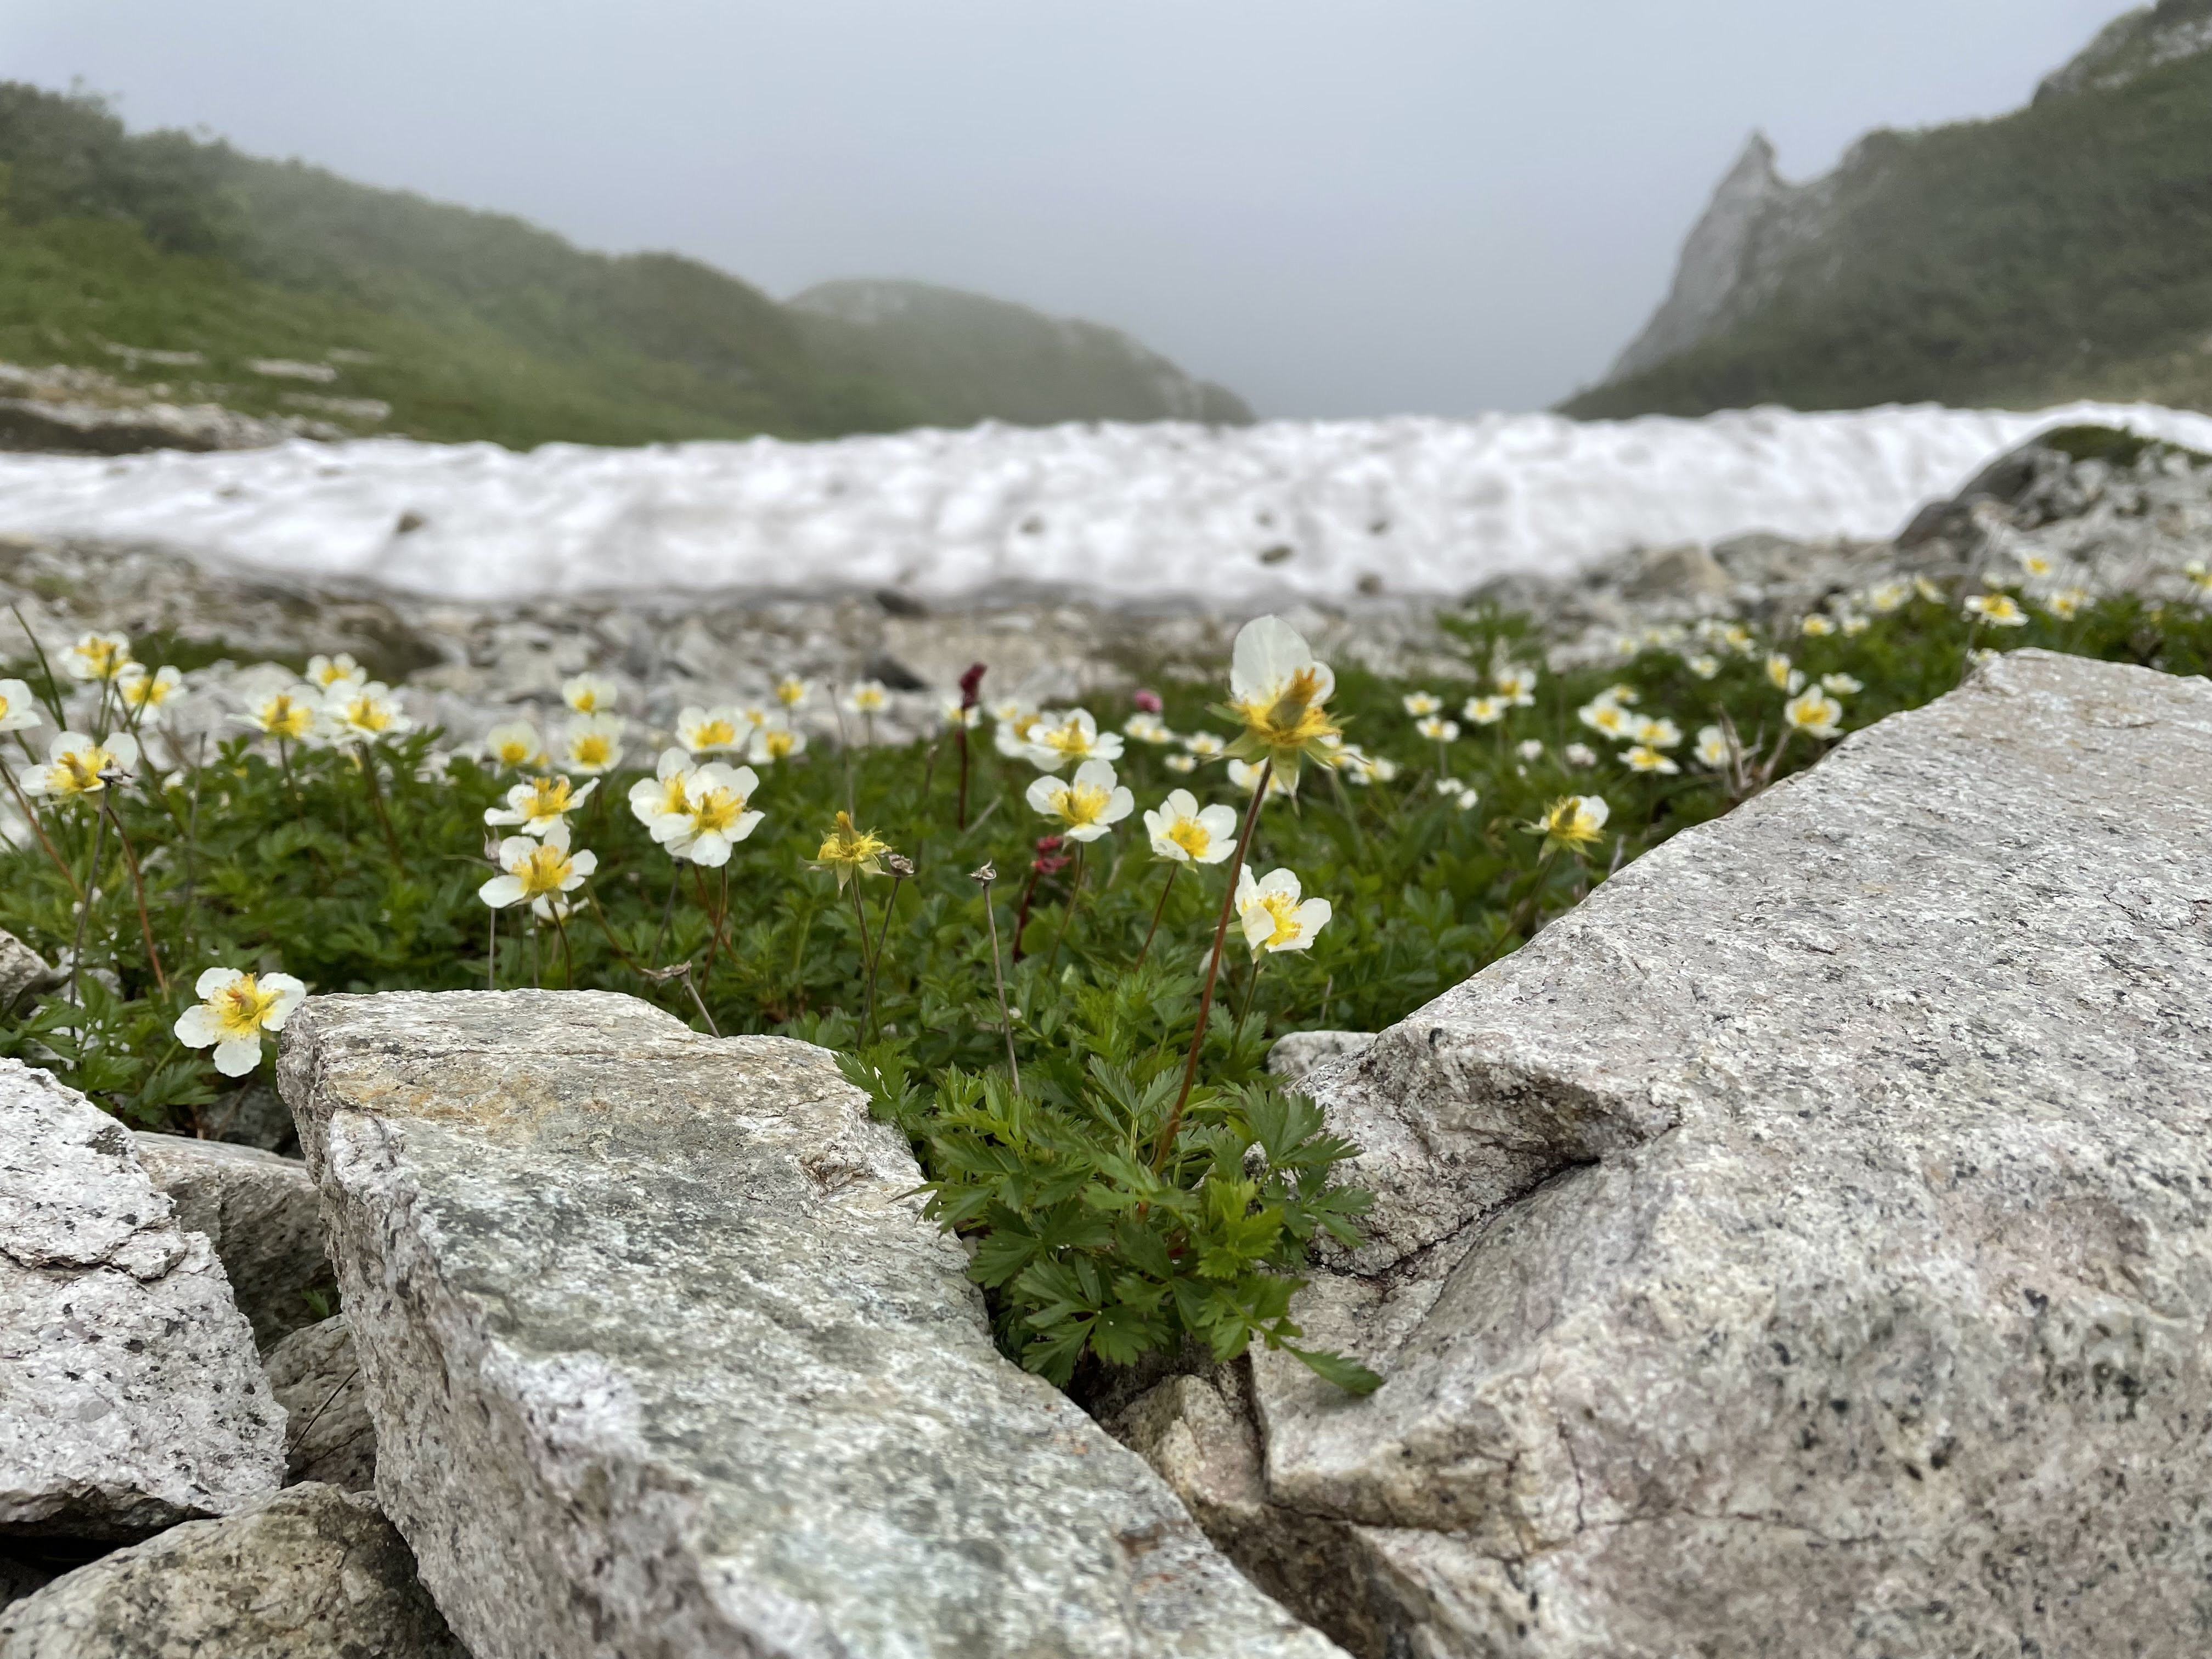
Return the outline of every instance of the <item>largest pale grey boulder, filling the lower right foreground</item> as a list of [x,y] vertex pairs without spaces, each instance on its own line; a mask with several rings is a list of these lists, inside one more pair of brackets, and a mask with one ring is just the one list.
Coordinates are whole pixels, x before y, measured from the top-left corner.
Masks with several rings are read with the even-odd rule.
[[1263,1489],[1391,1655],[2212,1650],[2205,681],[2006,655],[1307,1086],[1387,1383],[1254,1356]]

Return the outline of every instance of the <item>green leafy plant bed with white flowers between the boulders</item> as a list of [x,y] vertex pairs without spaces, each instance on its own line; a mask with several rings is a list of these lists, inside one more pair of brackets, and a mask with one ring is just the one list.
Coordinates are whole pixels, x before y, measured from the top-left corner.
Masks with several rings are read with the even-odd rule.
[[[438,732],[347,739],[327,717],[312,741],[239,719],[173,737],[188,728],[126,717],[119,681],[64,681],[24,655],[0,681],[22,677],[44,723],[0,732],[0,927],[66,964],[71,989],[0,1011],[0,1055],[133,1124],[195,1133],[241,1086],[177,1035],[208,969],[312,991],[626,991],[717,1033],[845,1055],[914,1141],[929,1212],[973,1248],[1024,1365],[1066,1380],[1261,1340],[1367,1387],[1303,1349],[1290,1318],[1310,1252],[1356,1239],[1365,1194],[1340,1179],[1352,1148],[1267,1077],[1274,1040],[1405,1018],[1646,849],[1816,761],[1829,732],[1951,690],[1971,650],[2212,668],[2203,608],[2022,595],[2020,626],[1997,626],[1960,597],[1887,584],[1787,639],[1661,633],[1617,666],[1533,677],[1526,701],[1482,708],[1491,723],[1460,699],[1535,666],[1542,641],[1522,617],[1453,617],[1462,681],[1347,670],[1327,714],[1358,763],[1310,763],[1298,794],[1256,816],[1223,761],[1199,759],[1219,692],[1168,688],[1159,726],[1139,721],[1115,761],[1135,805],[1212,799],[1245,821],[1254,874],[1292,872],[1334,905],[1298,949],[1250,949],[1232,925],[1219,969],[1234,860],[1168,863],[1135,814],[1088,843],[1051,834],[1026,801],[1037,768],[987,730],[759,759],[748,805],[763,816],[714,867],[672,856],[630,810],[664,741],[633,723],[628,754],[564,814],[595,869],[533,916],[480,898],[498,874],[487,838],[515,834],[484,814],[522,772]],[[179,697],[170,721],[217,692],[186,675]],[[1409,699],[1442,703],[1455,730],[1425,732]],[[135,734],[142,761],[97,792],[40,794],[33,768],[62,726]],[[1228,737],[1217,726],[1212,745]],[[1562,818],[1571,801],[1586,805]],[[880,838],[845,880],[823,845],[841,812]]]

